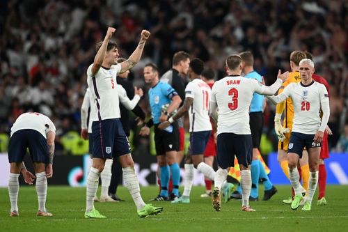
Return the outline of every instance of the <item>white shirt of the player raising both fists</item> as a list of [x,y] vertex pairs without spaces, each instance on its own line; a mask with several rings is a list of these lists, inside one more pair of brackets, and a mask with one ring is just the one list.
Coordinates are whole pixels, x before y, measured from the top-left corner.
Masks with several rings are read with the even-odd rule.
[[112,65],[109,70],[100,67],[95,75],[92,75],[91,72],[92,65],[87,69],[87,84],[97,114],[91,115],[90,121],[120,118],[118,88],[116,86],[116,77],[121,70],[120,63]]

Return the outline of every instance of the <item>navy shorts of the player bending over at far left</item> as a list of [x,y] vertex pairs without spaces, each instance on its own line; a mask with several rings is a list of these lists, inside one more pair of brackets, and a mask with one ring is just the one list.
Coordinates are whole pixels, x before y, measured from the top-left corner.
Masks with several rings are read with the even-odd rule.
[[10,137],[8,161],[22,162],[26,148],[29,148],[33,162],[48,163],[47,139],[40,132],[31,129],[18,130]]

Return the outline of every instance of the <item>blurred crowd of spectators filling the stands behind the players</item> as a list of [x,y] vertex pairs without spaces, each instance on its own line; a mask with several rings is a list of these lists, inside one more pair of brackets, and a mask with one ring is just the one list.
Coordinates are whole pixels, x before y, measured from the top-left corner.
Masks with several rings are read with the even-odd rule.
[[[311,52],[315,72],[331,86],[329,147],[348,152],[347,10],[343,0],[1,1],[0,149],[6,150],[3,144],[15,119],[32,110],[52,118],[56,154],[66,152],[59,144],[67,136],[79,137],[93,47],[113,26],[120,55],[126,58],[141,29],[151,32],[129,75],[145,93],[145,63],[156,63],[162,75],[179,50],[202,59],[216,79],[225,76],[228,55],[249,50],[267,85],[275,81],[278,68],[290,70],[290,52]],[[141,106],[148,112],[146,99]],[[274,110],[269,104],[264,111],[264,133],[276,147]]]

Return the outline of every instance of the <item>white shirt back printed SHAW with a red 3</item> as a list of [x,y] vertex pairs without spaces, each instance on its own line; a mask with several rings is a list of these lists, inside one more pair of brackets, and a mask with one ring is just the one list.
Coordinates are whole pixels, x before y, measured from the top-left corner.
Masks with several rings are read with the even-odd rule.
[[249,107],[257,84],[262,85],[255,79],[241,76],[228,76],[215,82],[212,98],[219,108],[218,134],[251,134]]

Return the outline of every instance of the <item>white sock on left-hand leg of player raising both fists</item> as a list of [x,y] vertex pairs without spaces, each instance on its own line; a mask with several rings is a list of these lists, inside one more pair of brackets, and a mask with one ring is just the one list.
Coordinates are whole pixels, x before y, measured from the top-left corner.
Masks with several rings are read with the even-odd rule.
[[90,167],[86,187],[86,211],[94,209],[93,197],[95,196],[98,190],[99,176],[99,170],[95,169],[94,167]]

